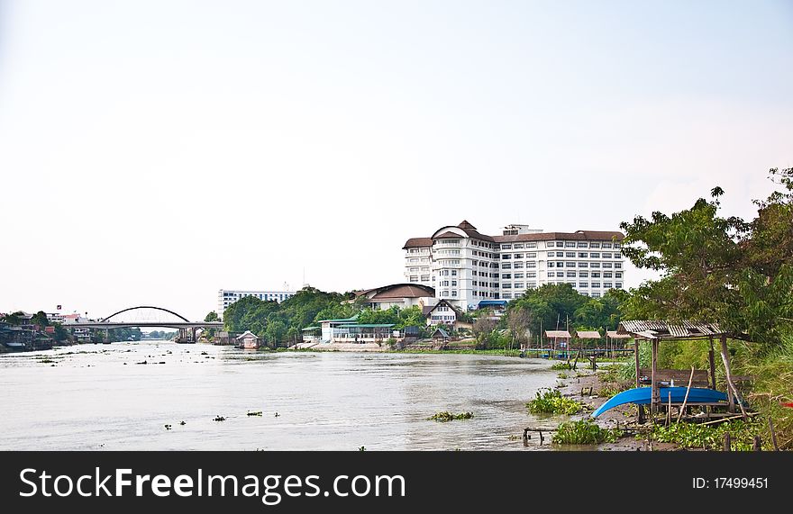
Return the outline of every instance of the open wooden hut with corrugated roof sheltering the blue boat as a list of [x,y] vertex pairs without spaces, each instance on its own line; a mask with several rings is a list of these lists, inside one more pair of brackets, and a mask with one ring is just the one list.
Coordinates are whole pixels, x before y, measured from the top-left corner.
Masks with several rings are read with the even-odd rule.
[[[710,371],[711,386],[716,389],[716,362],[715,351],[713,346],[714,338],[718,338],[721,347],[722,362],[725,365],[726,383],[727,383],[727,399],[729,410],[735,411],[734,396],[737,396],[738,390],[733,382],[733,374],[730,369],[730,353],[727,351],[727,332],[721,329],[716,323],[698,322],[698,321],[660,321],[660,320],[630,320],[623,321],[617,328],[618,334],[625,334],[633,337],[635,340],[635,366],[636,366],[636,386],[640,384],[642,370],[639,367],[639,340],[646,339],[652,344],[652,364],[650,369],[651,374],[651,387],[652,387],[652,403],[651,413],[661,410],[661,392],[659,391],[660,371],[658,369],[658,345],[661,341],[679,341],[679,340],[693,340],[693,339],[708,339],[710,341],[710,352],[708,355],[708,364]],[[673,371],[673,370],[668,370]],[[743,410],[743,407],[741,408]],[[643,416],[643,410],[639,410],[640,419]]]

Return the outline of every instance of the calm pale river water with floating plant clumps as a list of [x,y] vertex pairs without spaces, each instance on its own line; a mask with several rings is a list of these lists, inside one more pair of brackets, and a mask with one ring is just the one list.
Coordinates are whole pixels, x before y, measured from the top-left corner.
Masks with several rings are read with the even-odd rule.
[[[555,383],[549,366],[503,356],[256,352],[167,341],[4,354],[0,449],[545,449],[547,439],[524,447],[521,435],[556,424],[525,408]],[[442,410],[474,417],[427,420]]]

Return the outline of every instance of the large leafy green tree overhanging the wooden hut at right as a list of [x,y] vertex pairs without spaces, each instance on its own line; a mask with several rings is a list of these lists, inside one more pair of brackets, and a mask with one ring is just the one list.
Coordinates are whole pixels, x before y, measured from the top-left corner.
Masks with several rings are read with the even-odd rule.
[[623,252],[661,279],[634,290],[633,318],[717,321],[733,338],[778,346],[793,313],[793,170],[770,170],[785,191],[756,201],[750,222],[719,215],[720,187],[685,211],[620,225]]

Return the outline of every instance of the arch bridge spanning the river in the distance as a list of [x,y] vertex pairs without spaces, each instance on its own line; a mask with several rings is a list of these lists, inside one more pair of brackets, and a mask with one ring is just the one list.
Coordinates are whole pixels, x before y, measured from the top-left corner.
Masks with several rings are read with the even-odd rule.
[[105,338],[110,329],[130,329],[133,327],[178,329],[178,343],[195,343],[197,329],[223,329],[222,321],[190,321],[181,314],[153,305],[138,305],[114,312],[99,321],[70,323],[69,329],[104,329]]

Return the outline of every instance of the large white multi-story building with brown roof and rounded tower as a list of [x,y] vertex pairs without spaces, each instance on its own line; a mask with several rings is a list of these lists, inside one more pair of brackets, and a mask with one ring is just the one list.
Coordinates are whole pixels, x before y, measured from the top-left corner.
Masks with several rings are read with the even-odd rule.
[[408,239],[406,282],[429,285],[463,310],[483,300],[512,300],[542,284],[573,286],[598,298],[624,284],[622,232],[542,232],[508,225],[500,236],[479,233],[468,221]]

